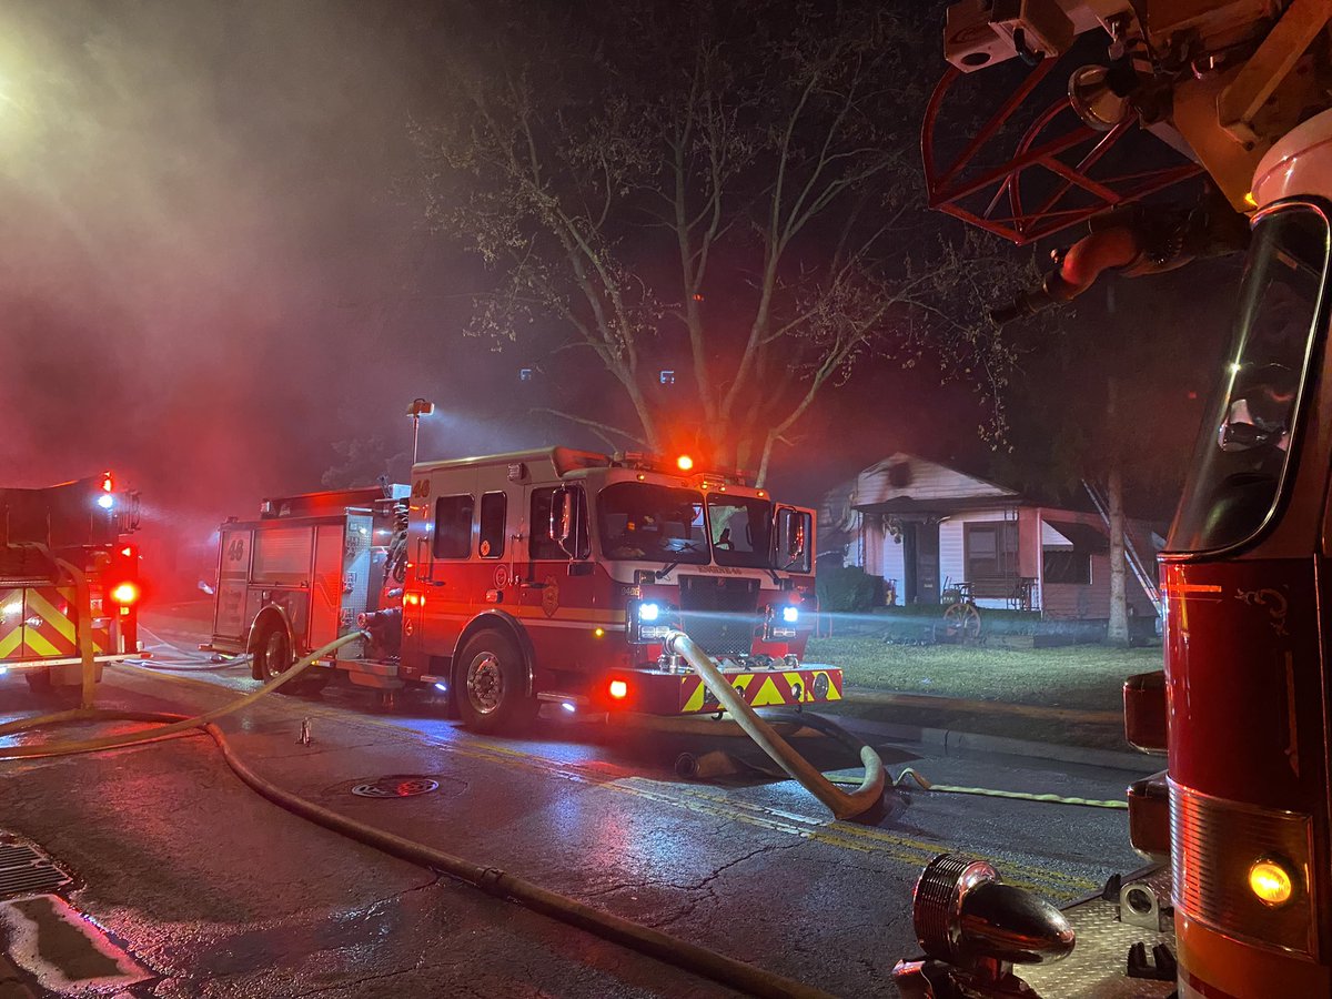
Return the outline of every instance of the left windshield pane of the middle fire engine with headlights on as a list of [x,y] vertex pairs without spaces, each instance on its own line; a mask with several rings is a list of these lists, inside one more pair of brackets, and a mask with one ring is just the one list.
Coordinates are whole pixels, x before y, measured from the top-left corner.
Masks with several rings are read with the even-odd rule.
[[606,558],[702,565],[710,561],[703,497],[649,482],[615,482],[597,497]]

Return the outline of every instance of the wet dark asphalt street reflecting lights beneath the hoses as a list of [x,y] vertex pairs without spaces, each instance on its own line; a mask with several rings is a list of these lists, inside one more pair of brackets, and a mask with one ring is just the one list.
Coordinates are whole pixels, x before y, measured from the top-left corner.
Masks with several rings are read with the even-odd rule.
[[[188,651],[198,638],[160,626],[149,643],[159,666],[197,666],[164,642]],[[253,686],[245,666],[125,666],[108,670],[99,706],[193,714]],[[0,721],[51,706],[0,682]],[[875,826],[835,822],[793,782],[677,779],[671,762],[707,749],[698,739],[563,718],[529,739],[481,738],[428,703],[385,713],[365,691],[330,687],[269,697],[222,727],[262,777],[329,809],[835,995],[894,994],[892,964],[915,950],[911,886],[936,852],[987,856],[1055,902],[1139,866],[1120,811],[916,791]],[[854,765],[801,742],[823,766]],[[954,785],[1115,798],[1139,775],[879,749],[894,773],[910,765]],[[440,786],[350,794],[394,774]],[[727,994],[312,826],[241,785],[204,737],[0,762],[0,830],[65,864],[77,883],[63,894],[143,966],[132,995]]]

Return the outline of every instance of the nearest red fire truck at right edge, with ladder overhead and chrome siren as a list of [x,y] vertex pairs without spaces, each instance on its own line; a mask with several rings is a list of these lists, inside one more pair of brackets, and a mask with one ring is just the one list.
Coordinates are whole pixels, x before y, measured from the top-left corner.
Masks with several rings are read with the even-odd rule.
[[[1167,863],[1062,915],[982,860],[936,858],[915,892],[926,959],[895,971],[906,995],[1332,995],[1329,23],[1328,0],[950,8],[955,71],[931,101],[923,141],[934,204],[1022,242],[1205,170],[1252,214],[1252,234],[1162,555],[1166,669],[1124,689],[1130,742],[1168,754],[1166,771],[1130,789],[1131,839]],[[1107,61],[1072,69],[1060,100],[1027,119],[1035,124],[1018,131],[1016,155],[996,166],[986,144],[1084,31],[1104,31]],[[1014,100],[939,169],[934,120],[948,88],[1018,57],[1032,69]],[[1127,172],[1123,157],[1104,169],[1136,125],[1196,165],[1181,172],[1152,155]],[[968,174],[972,157],[982,166]],[[1176,266],[1208,250],[1217,218],[1116,212],[1056,253],[1056,269],[1012,312],[1066,301],[1106,270]]]

